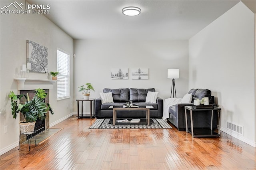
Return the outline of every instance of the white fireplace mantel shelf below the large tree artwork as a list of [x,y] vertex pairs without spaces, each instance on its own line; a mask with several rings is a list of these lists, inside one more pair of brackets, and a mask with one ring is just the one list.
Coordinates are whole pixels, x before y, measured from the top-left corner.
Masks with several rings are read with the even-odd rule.
[[18,90],[53,89],[57,80],[14,78],[18,82]]

